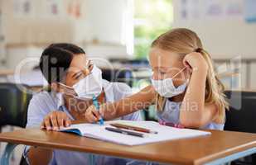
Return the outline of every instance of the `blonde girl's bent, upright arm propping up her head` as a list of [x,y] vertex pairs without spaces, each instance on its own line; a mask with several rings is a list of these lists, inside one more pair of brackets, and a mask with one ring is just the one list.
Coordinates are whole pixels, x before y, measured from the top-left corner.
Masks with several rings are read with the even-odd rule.
[[205,82],[208,65],[202,54],[191,53],[184,58],[184,63],[192,68],[191,80],[185,97],[181,103],[181,125],[190,128],[199,128],[213,120],[215,104],[205,105]]

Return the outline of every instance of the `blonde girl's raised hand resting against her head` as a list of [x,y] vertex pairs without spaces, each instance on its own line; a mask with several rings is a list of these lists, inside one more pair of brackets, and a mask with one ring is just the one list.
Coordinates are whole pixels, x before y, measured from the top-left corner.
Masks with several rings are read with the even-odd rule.
[[206,63],[203,54],[197,52],[186,54],[185,58],[183,59],[183,64],[187,68],[191,68],[192,72],[196,70],[208,70],[208,64]]

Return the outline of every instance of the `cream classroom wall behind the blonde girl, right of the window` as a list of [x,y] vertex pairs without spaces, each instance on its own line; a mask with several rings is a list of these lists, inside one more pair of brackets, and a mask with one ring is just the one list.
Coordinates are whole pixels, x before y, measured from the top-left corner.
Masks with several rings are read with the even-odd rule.
[[[187,27],[200,36],[205,50],[219,63],[221,73],[232,72],[229,65],[240,61],[234,88],[256,88],[256,21],[247,21],[255,7],[248,0],[173,0],[173,27]],[[252,11],[253,8],[253,11]],[[252,59],[244,63],[244,59]],[[243,62],[243,63],[242,63]],[[227,66],[227,67],[225,67]],[[229,81],[228,81],[229,82]]]

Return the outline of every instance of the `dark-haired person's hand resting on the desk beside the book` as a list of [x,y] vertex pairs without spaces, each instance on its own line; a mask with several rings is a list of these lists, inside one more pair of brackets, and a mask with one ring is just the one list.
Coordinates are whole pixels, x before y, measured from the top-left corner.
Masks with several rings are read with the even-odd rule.
[[71,121],[68,115],[63,111],[52,111],[46,115],[45,119],[41,123],[41,129],[46,130],[60,130],[63,127],[71,125]]

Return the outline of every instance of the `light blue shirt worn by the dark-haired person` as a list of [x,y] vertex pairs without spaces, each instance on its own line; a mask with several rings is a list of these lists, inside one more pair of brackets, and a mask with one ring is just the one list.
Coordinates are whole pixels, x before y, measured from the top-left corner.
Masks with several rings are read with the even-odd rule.
[[[108,82],[103,80],[103,87],[107,102],[114,102],[128,97],[133,94],[131,88],[121,82]],[[27,111],[27,128],[37,127],[39,128],[42,120],[51,111],[64,111],[70,116],[71,120],[74,120],[70,112],[64,105],[64,99],[60,93],[54,92],[39,92],[34,95],[30,101]],[[121,120],[142,120],[140,112],[134,112],[133,114],[125,115]],[[24,157],[27,158],[27,152],[29,147],[24,150]],[[125,164],[128,162],[126,159],[111,158],[106,156],[97,156],[97,164]],[[69,164],[88,164],[89,155],[87,153],[70,152],[65,150],[56,149],[53,152],[53,158],[51,159],[52,165],[69,165]]]

